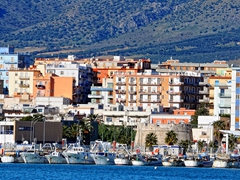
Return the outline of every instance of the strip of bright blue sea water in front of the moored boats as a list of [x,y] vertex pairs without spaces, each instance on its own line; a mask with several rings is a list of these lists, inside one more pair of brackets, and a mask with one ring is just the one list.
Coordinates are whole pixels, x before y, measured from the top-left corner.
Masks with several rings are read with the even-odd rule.
[[240,169],[153,167],[153,166],[99,166],[68,164],[0,164],[0,179],[13,180],[237,180]]

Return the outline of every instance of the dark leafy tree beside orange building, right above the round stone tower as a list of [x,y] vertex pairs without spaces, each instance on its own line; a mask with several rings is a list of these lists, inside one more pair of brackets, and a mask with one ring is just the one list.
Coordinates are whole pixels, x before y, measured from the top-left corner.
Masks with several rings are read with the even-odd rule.
[[207,116],[209,115],[209,110],[208,110],[208,103],[201,103],[200,107],[195,111],[195,114],[192,116],[192,127],[197,127],[198,126],[198,116]]

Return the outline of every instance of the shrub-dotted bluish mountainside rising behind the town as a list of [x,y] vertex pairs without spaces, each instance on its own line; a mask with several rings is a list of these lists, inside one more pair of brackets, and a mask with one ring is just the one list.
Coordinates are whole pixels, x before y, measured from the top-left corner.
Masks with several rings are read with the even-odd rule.
[[238,60],[239,19],[237,0],[11,0],[1,2],[0,45],[36,56]]

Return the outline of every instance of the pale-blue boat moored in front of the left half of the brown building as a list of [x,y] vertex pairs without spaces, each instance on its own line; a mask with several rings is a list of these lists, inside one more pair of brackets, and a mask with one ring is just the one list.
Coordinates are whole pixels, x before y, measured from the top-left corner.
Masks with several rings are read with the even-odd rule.
[[45,155],[48,154],[49,151],[52,151],[51,144],[46,143],[42,149],[36,149],[35,144],[33,146],[33,148],[27,149],[26,151],[20,153],[24,163],[48,163]]

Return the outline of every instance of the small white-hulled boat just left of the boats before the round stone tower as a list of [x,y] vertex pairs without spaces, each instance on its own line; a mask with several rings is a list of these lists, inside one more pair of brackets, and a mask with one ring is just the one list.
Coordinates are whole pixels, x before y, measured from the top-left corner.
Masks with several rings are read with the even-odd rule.
[[114,163],[116,165],[132,165],[130,157],[131,157],[131,154],[127,150],[127,145],[118,144],[117,155],[116,155],[116,158],[114,159]]

